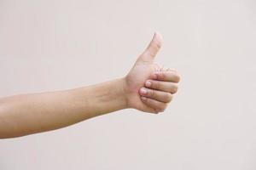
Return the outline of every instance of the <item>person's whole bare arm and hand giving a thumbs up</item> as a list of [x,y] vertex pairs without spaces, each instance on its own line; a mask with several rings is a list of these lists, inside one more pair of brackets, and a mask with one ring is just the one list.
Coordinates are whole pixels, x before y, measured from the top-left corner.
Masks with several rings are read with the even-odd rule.
[[0,138],[42,133],[126,108],[165,111],[180,77],[177,71],[154,64],[161,44],[160,34],[155,33],[125,77],[83,88],[0,98]]

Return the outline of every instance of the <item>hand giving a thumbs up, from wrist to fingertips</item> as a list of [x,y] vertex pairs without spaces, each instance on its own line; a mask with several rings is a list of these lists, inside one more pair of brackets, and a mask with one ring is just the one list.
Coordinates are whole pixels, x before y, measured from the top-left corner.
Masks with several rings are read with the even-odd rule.
[[154,57],[160,50],[162,38],[155,33],[148,48],[141,54],[131,71],[125,77],[125,94],[128,108],[159,113],[165,111],[177,92],[180,77],[171,69],[154,64]]

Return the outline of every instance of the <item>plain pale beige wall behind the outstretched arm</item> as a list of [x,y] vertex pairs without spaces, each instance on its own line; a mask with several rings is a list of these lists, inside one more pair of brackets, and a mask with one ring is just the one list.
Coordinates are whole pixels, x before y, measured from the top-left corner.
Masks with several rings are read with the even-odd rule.
[[1,170],[256,169],[255,0],[0,0],[0,96],[123,77],[154,31],[182,75],[164,114],[0,140]]

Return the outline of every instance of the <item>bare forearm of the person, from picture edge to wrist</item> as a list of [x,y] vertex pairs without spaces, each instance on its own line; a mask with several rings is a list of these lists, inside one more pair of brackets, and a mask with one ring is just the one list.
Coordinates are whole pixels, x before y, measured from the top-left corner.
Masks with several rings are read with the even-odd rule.
[[0,138],[45,132],[125,109],[123,81],[0,99]]

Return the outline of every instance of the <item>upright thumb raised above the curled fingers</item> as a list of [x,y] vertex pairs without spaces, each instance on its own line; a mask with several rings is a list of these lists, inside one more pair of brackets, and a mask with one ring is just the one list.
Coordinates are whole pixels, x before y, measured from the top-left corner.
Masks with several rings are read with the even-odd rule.
[[144,50],[143,54],[139,57],[140,61],[153,62],[155,55],[160,51],[162,46],[162,37],[160,33],[155,32],[154,37]]

